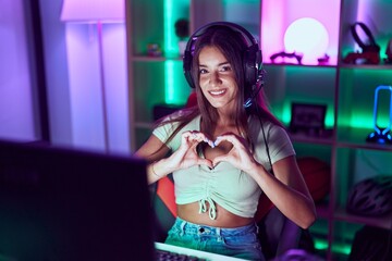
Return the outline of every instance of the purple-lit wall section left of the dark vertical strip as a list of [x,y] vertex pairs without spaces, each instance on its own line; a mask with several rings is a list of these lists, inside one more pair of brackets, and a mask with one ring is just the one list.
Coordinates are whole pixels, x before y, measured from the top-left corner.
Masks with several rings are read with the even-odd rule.
[[36,139],[33,76],[22,0],[0,1],[0,138]]

